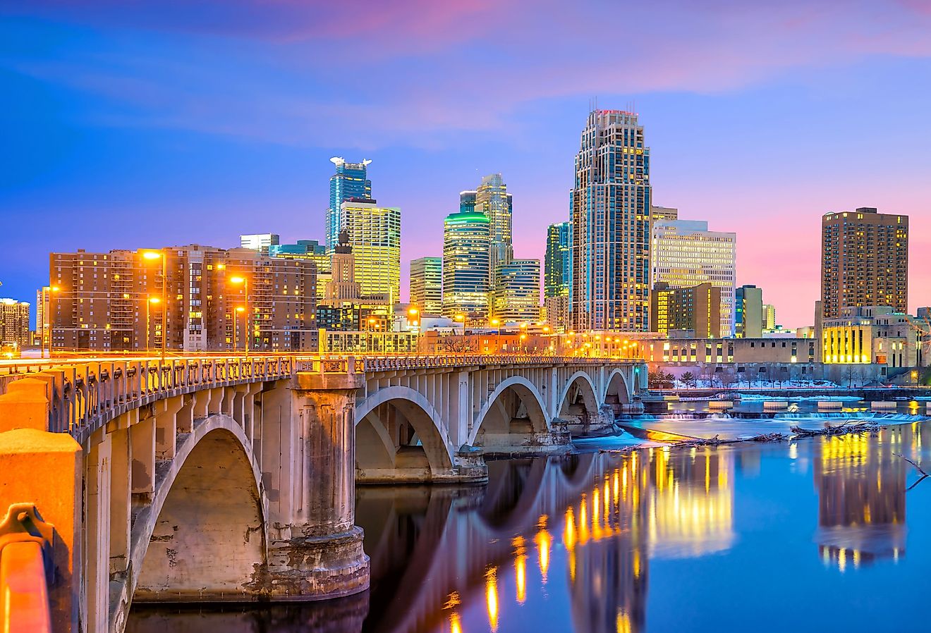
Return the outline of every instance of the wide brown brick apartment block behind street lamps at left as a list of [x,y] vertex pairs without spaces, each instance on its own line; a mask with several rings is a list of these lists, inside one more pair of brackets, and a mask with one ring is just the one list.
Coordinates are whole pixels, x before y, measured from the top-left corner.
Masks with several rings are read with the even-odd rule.
[[[198,245],[78,250],[52,253],[49,262],[54,350],[158,349],[162,310],[168,310],[169,350],[242,351],[247,338],[251,349],[270,352],[312,350],[317,343],[313,263]],[[247,283],[237,286],[234,277]]]

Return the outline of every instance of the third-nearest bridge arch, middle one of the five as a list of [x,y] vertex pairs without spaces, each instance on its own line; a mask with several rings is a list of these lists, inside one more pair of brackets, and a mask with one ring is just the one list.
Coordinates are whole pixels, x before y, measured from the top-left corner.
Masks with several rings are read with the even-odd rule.
[[546,433],[549,419],[546,403],[536,386],[523,376],[511,376],[488,395],[469,433],[468,443],[487,446],[489,442],[484,439],[492,440],[492,437]]

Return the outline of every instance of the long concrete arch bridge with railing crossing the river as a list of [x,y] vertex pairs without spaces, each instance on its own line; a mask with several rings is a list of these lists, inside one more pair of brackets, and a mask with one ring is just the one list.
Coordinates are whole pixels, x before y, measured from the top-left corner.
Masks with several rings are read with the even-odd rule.
[[42,519],[53,526],[50,617],[55,630],[87,631],[121,631],[133,601],[362,591],[357,481],[482,482],[484,455],[567,451],[573,433],[638,406],[646,386],[639,360],[578,357],[113,358],[2,370],[0,467],[13,476],[0,506],[41,514],[18,511],[4,525],[33,539]]

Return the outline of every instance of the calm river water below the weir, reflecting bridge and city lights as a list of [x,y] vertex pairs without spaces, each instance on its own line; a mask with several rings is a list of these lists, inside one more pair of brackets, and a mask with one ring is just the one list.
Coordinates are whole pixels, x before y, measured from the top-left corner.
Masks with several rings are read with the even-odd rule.
[[367,594],[222,612],[134,609],[128,630],[910,626],[908,613],[884,605],[931,565],[931,480],[907,492],[919,475],[897,455],[928,460],[925,424],[876,437],[492,462],[483,488],[363,487]]

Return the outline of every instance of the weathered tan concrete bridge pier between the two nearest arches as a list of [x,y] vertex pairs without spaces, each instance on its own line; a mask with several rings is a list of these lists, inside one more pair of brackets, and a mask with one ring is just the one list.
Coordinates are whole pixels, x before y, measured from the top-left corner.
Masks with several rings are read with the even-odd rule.
[[273,523],[272,599],[335,598],[369,586],[369,557],[355,525],[354,410],[361,386],[355,374],[310,373],[297,374],[292,385],[298,464],[290,516]]

